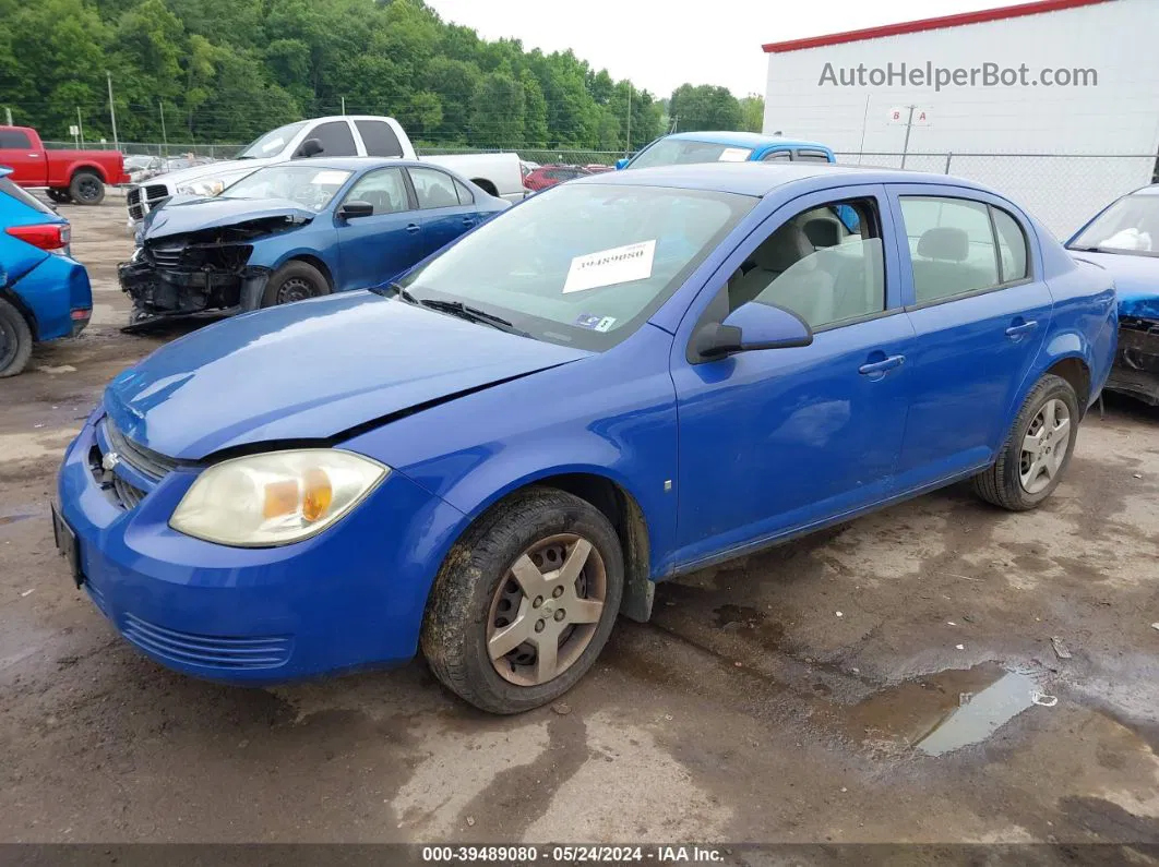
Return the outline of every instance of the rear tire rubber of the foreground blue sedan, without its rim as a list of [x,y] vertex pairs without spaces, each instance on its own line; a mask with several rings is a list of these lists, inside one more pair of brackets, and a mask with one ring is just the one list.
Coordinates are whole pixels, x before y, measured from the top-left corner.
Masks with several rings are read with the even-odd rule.
[[[1070,412],[1070,429],[1066,440],[1066,454],[1063,456],[1062,465],[1058,468],[1050,483],[1036,493],[1029,493],[1023,487],[1020,478],[1020,460],[1022,456],[1022,441],[1034,423],[1035,417],[1050,401],[1062,401]],[[1026,512],[1033,509],[1055,492],[1066,468],[1070,465],[1074,454],[1074,441],[1079,433],[1078,397],[1071,384],[1052,374],[1047,374],[1030,389],[1030,394],[1022,402],[1014,426],[1011,428],[1006,442],[998,453],[998,460],[986,470],[974,477],[974,492],[986,502],[1000,506],[1011,512]]]

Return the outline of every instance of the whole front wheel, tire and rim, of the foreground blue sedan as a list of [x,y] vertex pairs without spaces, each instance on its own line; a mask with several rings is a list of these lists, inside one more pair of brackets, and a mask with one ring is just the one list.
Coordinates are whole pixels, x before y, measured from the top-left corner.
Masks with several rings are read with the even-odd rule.
[[531,488],[493,507],[447,554],[423,620],[435,676],[491,713],[555,700],[615,624],[624,554],[589,502]]

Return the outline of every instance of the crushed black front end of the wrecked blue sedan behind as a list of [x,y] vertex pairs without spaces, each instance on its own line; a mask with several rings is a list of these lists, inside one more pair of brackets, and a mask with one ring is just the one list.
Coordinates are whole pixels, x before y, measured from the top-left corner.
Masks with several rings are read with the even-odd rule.
[[130,328],[202,313],[224,315],[261,306],[269,269],[253,267],[254,248],[236,229],[148,241],[117,266],[132,299]]

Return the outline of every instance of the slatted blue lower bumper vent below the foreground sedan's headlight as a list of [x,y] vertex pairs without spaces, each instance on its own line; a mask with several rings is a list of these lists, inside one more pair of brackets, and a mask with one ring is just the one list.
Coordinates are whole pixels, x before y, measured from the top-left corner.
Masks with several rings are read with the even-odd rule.
[[150,653],[177,663],[205,668],[276,668],[290,659],[289,635],[219,638],[178,632],[125,613],[125,638]]

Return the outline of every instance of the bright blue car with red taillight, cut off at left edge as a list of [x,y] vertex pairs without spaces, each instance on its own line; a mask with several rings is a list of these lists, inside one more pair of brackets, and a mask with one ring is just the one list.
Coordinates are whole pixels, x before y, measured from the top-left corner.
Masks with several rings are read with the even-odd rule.
[[85,266],[68,255],[68,221],[0,167],[0,379],[28,363],[32,344],[75,337],[93,315]]

